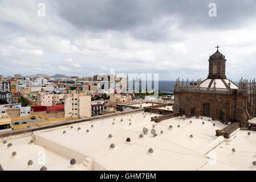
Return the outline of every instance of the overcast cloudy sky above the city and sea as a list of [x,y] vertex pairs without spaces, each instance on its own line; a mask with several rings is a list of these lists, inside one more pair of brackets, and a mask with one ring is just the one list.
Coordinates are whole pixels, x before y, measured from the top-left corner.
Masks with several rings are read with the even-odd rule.
[[82,77],[114,68],[160,80],[205,78],[219,44],[226,76],[251,79],[255,32],[255,0],[0,0],[0,75]]

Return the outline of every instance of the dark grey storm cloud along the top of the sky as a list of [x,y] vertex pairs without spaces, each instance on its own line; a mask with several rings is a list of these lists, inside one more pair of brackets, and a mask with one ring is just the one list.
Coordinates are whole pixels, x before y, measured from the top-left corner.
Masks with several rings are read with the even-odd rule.
[[[256,13],[254,0],[62,0],[58,2],[59,15],[76,27],[98,31],[134,31],[135,34],[137,28],[144,30],[145,34],[157,33],[151,30],[155,27],[150,24],[166,16],[176,17],[180,26],[186,28],[196,26],[231,28],[245,23]],[[217,5],[216,18],[208,16],[209,3]],[[160,24],[159,28],[163,26]]]

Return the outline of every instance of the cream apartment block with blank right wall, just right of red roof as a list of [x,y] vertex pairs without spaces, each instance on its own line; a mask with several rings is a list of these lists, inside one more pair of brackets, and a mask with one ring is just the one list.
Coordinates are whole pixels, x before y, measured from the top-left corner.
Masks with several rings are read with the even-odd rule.
[[65,117],[91,117],[91,96],[66,94],[64,101]]

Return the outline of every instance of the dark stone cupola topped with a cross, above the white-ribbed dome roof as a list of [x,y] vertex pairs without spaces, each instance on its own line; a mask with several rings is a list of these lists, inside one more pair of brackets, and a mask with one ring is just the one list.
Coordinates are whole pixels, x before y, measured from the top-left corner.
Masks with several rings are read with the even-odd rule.
[[217,51],[209,58],[209,75],[208,79],[226,79],[225,69],[226,69],[226,59],[218,51],[219,46],[216,47]]

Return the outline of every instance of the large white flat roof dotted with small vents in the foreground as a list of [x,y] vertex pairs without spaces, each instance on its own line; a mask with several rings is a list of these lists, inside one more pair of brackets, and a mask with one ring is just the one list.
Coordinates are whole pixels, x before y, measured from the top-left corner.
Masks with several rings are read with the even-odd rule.
[[[158,114],[139,112],[70,125],[73,129],[64,126],[36,131],[32,145],[28,144],[32,137],[11,139],[8,143],[13,143],[13,149],[20,155],[20,159],[17,161],[10,158],[13,149],[7,149],[6,144],[4,146],[1,143],[1,165],[6,170],[27,170],[27,161],[30,158],[36,161],[37,152],[42,150],[46,151],[47,156],[43,166],[49,170],[74,169],[70,167],[72,158],[76,159],[76,169],[83,170],[254,169],[251,168],[256,151],[254,131],[250,131],[249,137],[247,131],[238,131],[231,138],[231,142],[223,142],[223,137],[216,137],[216,130],[226,127],[221,122],[208,121],[210,118],[207,117],[184,120],[176,117],[154,123],[151,122],[151,117],[155,115]],[[173,126],[172,129],[169,129],[170,125]],[[149,131],[140,138],[143,127]],[[86,132],[87,129],[89,132]],[[156,130],[156,137],[151,134],[152,129]],[[63,134],[64,130],[66,134]],[[109,134],[112,138],[108,138]],[[128,137],[131,142],[126,142]],[[115,144],[115,148],[109,147],[111,143]],[[216,147],[216,143],[221,145]],[[234,155],[231,153],[233,147],[237,151]],[[152,154],[148,152],[149,148],[153,149]],[[215,152],[216,163],[211,162],[208,151],[209,154]],[[41,166],[29,169],[38,170]]]

